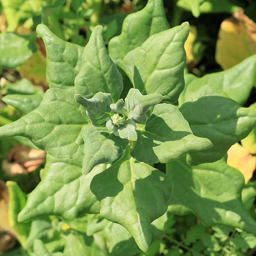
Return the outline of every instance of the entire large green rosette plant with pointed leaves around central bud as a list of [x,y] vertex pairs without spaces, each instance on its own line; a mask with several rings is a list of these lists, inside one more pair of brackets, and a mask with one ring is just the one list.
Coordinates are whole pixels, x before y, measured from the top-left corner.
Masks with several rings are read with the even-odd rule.
[[[39,107],[0,128],[0,136],[27,137],[48,153],[19,221],[100,213],[124,226],[144,252],[150,224],[168,207],[194,213],[205,225],[256,233],[241,202],[244,179],[225,159],[256,126],[256,109],[240,106],[253,86],[255,56],[227,71],[184,79],[189,25],[170,29],[162,0],[127,16],[109,43],[110,55],[101,26],[85,48],[44,25],[37,32],[46,45],[50,89]],[[124,100],[116,65],[134,87]],[[154,168],[158,162],[167,163],[166,174]]]

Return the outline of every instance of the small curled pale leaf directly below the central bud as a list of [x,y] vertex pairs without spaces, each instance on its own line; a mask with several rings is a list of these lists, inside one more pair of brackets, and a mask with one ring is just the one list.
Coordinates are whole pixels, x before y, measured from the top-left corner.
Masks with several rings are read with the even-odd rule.
[[124,124],[119,126],[114,125],[111,118],[107,118],[106,126],[109,131],[113,131],[113,134],[122,138],[122,139],[130,139],[137,140],[136,133],[136,124],[133,120],[128,119]]

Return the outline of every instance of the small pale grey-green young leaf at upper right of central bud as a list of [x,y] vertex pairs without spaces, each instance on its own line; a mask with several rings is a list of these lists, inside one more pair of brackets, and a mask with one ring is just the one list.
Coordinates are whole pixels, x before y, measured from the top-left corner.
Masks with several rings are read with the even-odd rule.
[[153,93],[142,95],[138,89],[130,89],[125,98],[128,118],[138,124],[146,123],[146,112],[149,107],[155,106],[162,100],[161,94]]

